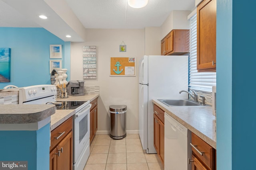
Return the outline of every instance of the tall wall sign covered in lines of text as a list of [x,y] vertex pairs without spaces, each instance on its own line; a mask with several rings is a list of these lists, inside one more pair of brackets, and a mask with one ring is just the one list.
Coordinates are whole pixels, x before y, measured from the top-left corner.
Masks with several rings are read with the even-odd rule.
[[97,79],[96,46],[83,46],[83,77]]

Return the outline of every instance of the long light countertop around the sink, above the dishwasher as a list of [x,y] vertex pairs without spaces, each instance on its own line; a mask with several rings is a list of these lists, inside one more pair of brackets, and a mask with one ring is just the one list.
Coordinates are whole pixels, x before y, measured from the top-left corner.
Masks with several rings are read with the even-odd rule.
[[153,103],[216,149],[215,116],[211,106],[166,106],[154,99]]

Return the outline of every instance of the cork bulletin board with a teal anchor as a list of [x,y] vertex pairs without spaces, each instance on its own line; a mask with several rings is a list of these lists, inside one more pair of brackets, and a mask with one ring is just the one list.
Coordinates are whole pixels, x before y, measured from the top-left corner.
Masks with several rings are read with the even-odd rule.
[[136,76],[135,57],[110,57],[110,76]]

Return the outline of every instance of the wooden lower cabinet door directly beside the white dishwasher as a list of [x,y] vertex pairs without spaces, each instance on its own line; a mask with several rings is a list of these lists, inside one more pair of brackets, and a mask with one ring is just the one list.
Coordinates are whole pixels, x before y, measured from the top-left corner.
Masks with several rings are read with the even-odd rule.
[[158,156],[164,164],[164,123],[160,120],[158,121],[158,129]]

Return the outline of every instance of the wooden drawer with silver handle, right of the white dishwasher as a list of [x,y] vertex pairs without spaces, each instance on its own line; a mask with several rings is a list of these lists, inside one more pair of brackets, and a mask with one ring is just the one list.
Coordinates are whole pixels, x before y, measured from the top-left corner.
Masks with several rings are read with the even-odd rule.
[[210,170],[215,169],[215,149],[208,145],[194,133],[191,134],[191,144],[202,152],[202,155],[192,147],[193,154],[201,160]]

